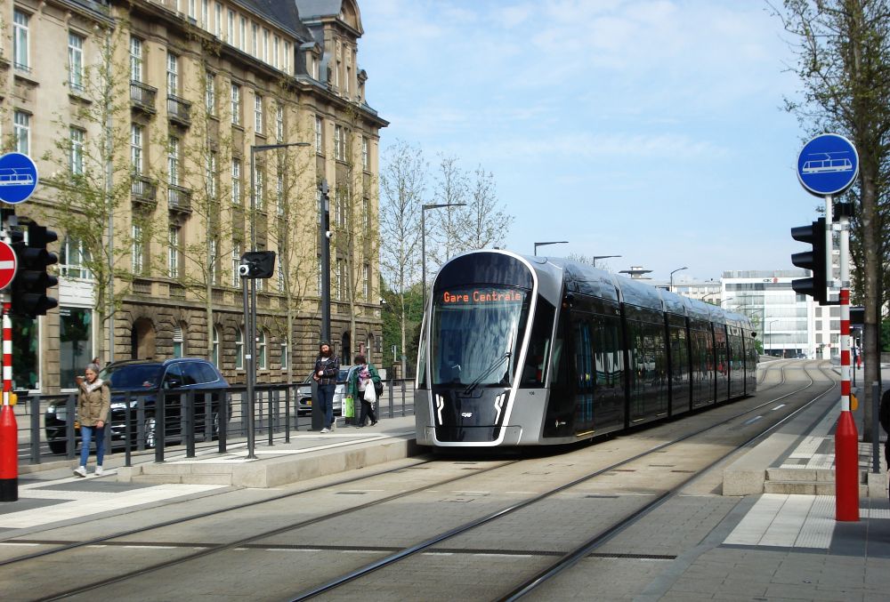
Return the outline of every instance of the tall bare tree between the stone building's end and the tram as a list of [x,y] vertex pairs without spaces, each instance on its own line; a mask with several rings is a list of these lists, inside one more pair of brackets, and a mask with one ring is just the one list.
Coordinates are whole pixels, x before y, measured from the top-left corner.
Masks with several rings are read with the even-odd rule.
[[[406,295],[420,269],[420,213],[423,211],[428,165],[423,150],[397,140],[380,174],[380,268],[392,291],[389,301],[399,321],[401,357],[406,356],[409,303]],[[401,374],[407,373],[401,360]]]

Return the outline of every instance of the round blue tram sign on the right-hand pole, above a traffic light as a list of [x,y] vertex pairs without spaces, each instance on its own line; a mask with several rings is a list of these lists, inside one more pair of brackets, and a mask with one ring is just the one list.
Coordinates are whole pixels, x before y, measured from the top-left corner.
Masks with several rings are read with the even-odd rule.
[[859,174],[859,154],[850,140],[823,133],[804,145],[797,156],[797,180],[817,197],[850,188]]

